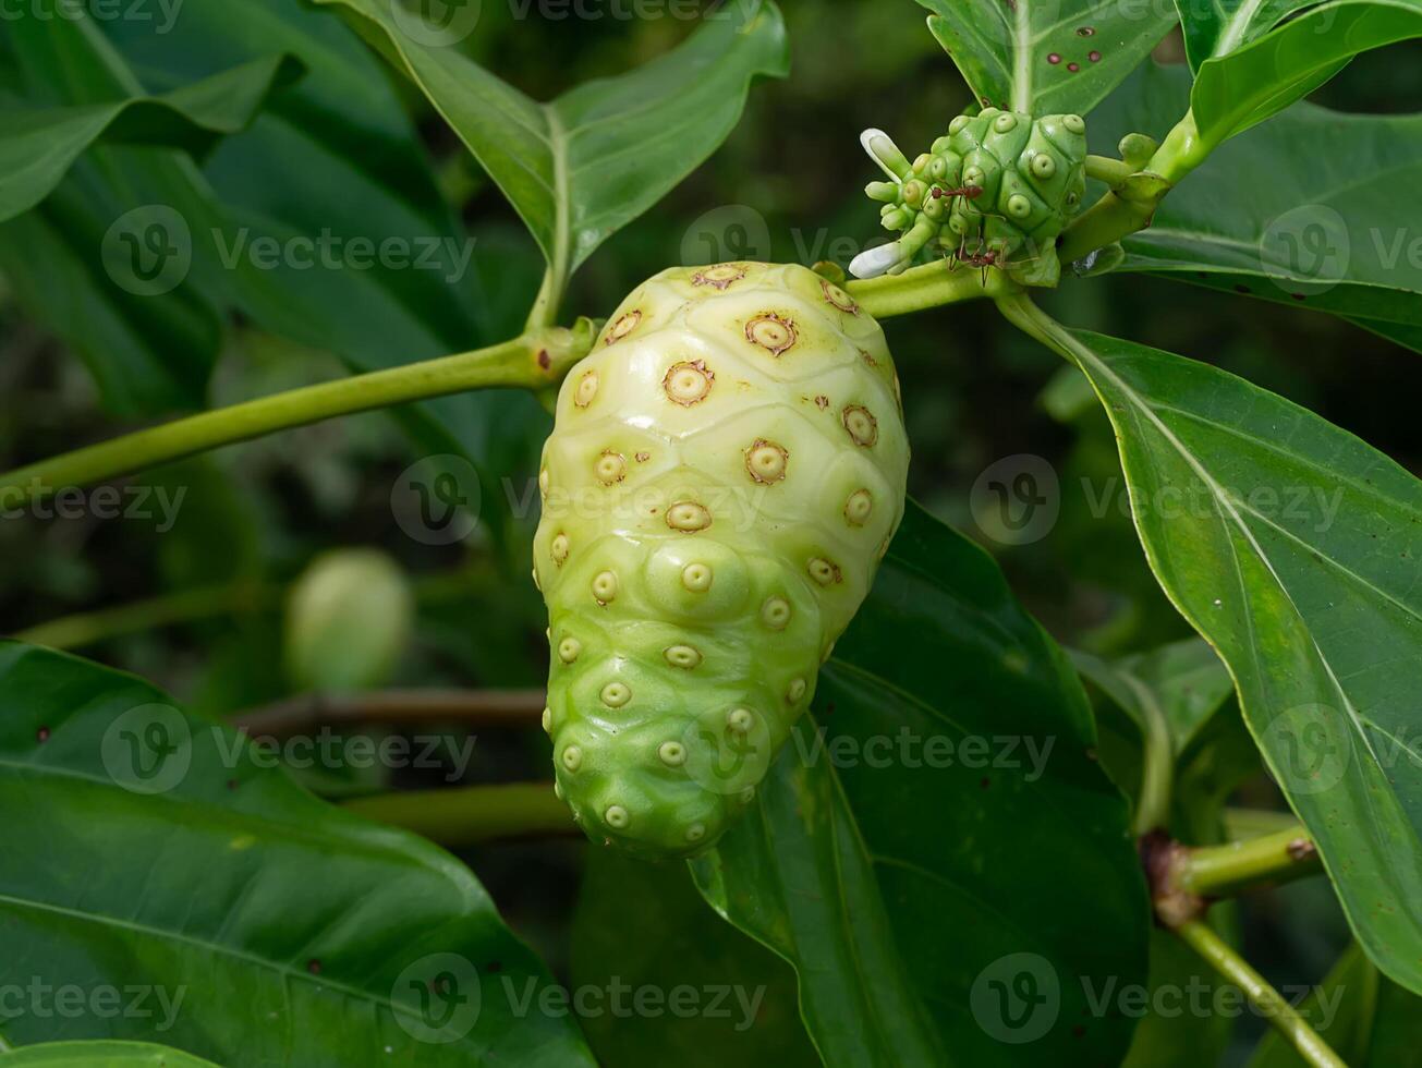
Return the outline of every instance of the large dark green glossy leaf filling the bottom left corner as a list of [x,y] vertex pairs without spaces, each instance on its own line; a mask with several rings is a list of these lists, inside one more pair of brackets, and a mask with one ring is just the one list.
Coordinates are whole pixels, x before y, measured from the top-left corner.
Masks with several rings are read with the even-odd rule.
[[33,829],[0,839],[0,983],[151,994],[63,1018],[33,995],[0,1025],[11,1045],[592,1064],[567,1017],[539,1010],[546,971],[468,869],[317,801],[132,675],[0,644],[0,806]]

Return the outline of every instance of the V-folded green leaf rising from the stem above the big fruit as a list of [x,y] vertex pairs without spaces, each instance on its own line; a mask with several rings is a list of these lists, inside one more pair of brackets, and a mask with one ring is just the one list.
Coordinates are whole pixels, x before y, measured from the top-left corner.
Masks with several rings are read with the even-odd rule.
[[715,151],[755,77],[788,73],[785,26],[771,0],[732,0],[680,48],[549,104],[479,67],[398,3],[317,3],[348,9],[429,97],[559,279]]

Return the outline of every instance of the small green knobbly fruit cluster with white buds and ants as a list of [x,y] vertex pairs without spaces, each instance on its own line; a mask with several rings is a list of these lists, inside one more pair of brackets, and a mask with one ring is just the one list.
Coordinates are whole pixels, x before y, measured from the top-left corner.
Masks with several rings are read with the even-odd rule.
[[1001,267],[1028,286],[1057,284],[1057,237],[1086,192],[1081,115],[1034,119],[997,108],[958,115],[912,164],[883,131],[865,131],[863,144],[893,179],[865,192],[883,205],[884,229],[903,236],[857,257],[855,274],[900,272],[929,249],[973,267]]

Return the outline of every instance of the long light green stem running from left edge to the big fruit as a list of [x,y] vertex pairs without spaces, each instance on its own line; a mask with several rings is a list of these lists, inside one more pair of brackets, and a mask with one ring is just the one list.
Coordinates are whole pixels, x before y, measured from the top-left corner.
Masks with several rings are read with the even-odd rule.
[[0,475],[0,505],[14,508],[28,498],[57,489],[128,475],[195,452],[337,415],[465,390],[542,390],[555,385],[587,354],[596,333],[596,324],[583,319],[570,330],[533,330],[489,348],[309,385],[125,434]]

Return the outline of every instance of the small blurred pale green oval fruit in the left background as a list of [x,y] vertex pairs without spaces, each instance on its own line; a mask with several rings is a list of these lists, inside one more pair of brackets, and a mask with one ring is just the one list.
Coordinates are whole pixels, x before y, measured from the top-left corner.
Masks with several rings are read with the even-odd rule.
[[365,690],[390,678],[414,629],[400,566],[374,549],[319,556],[286,604],[286,668],[307,690]]

